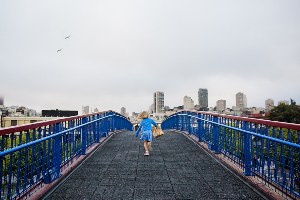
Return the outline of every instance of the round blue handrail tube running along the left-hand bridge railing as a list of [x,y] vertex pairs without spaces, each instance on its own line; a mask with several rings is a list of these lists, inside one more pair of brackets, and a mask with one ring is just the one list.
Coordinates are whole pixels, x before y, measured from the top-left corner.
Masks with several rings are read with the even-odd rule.
[[109,117],[112,117],[112,116],[118,116],[118,117],[121,117],[121,118],[126,118],[126,117],[124,117],[123,115],[115,115],[115,114],[113,114],[113,115],[105,116],[105,117],[103,117],[103,118],[95,119],[95,120],[93,120],[93,121],[90,121],[90,122],[87,122],[87,123],[78,125],[78,126],[76,126],[76,127],[69,128],[69,129],[67,129],[67,130],[61,131],[61,132],[59,132],[59,133],[55,133],[55,134],[49,135],[49,136],[47,136],[47,137],[40,138],[40,139],[34,140],[34,141],[32,141],[32,142],[29,142],[29,143],[26,143],[26,144],[22,144],[22,145],[19,145],[19,146],[14,147],[14,148],[10,148],[10,149],[8,149],[8,150],[2,151],[2,152],[0,152],[0,158],[2,158],[3,156],[8,155],[8,154],[10,154],[10,153],[14,153],[14,152],[17,152],[17,151],[19,151],[19,150],[22,150],[22,149],[24,149],[24,148],[26,148],[26,147],[30,147],[30,146],[33,146],[33,145],[35,145],[35,144],[41,143],[41,142],[43,142],[43,141],[46,141],[46,140],[49,140],[49,139],[52,139],[52,138],[56,138],[56,137],[58,137],[58,136],[60,136],[60,135],[62,135],[62,134],[64,134],[64,133],[68,133],[68,132],[70,132],[70,131],[76,130],[76,129],[81,128],[81,127],[83,127],[83,126],[87,126],[88,124],[91,124],[91,123],[97,122],[97,121],[99,121],[99,120],[101,120],[101,119],[109,118]]

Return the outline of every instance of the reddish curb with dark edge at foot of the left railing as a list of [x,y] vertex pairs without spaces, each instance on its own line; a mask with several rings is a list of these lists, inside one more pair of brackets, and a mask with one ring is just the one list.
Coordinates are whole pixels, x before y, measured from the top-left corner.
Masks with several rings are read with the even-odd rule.
[[27,200],[47,200],[56,190],[65,183],[72,175],[75,173],[84,163],[88,160],[109,138],[111,138],[114,134],[120,133],[128,130],[119,130],[108,133],[108,136],[102,138],[100,143],[94,145],[87,151],[86,155],[81,155],[77,160],[75,160],[72,164],[70,164],[67,168],[65,168],[61,173],[63,174],[61,177],[57,178],[52,183],[47,183],[41,188],[34,192]]

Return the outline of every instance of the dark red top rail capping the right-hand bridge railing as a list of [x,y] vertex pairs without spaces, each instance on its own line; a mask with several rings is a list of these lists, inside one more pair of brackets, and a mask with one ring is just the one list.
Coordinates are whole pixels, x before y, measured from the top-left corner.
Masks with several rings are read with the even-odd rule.
[[188,111],[188,112],[192,112],[192,113],[200,113],[200,114],[211,115],[211,116],[216,116],[216,117],[221,117],[221,118],[240,120],[240,121],[244,121],[244,122],[251,122],[251,123],[263,124],[263,125],[272,126],[272,127],[287,128],[287,129],[300,131],[300,124],[277,122],[277,121],[271,121],[271,120],[265,120],[265,119],[245,118],[245,117],[238,117],[238,116],[233,116],[233,115],[224,115],[224,114],[218,114],[218,113],[209,113],[209,112],[204,112],[204,111],[195,111],[195,110],[187,110],[187,109],[180,110],[176,113],[173,113],[172,115],[169,115],[167,118],[165,118],[163,121],[165,121],[169,117],[176,115],[178,113],[181,113],[183,111]]

